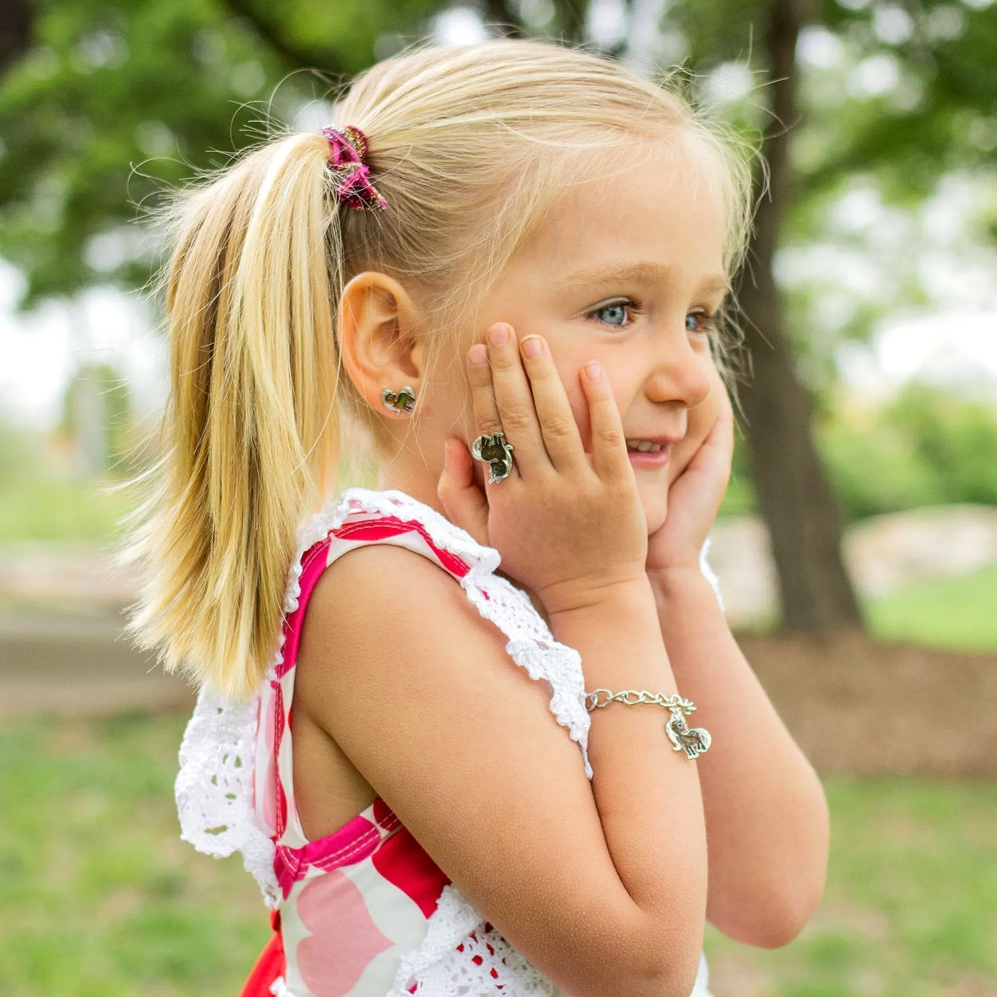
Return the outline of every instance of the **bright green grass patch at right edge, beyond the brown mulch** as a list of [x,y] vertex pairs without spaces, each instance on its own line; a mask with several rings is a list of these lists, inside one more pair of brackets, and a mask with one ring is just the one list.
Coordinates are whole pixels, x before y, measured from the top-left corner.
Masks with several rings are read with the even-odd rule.
[[953,651],[997,651],[997,565],[910,585],[870,600],[866,613],[872,635],[882,640]]

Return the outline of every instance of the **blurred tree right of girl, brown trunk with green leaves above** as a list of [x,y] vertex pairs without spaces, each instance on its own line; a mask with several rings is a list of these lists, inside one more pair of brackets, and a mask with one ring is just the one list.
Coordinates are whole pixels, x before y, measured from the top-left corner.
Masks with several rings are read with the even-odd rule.
[[[737,289],[752,358],[741,398],[784,625],[854,625],[860,618],[841,560],[841,518],[814,444],[814,399],[800,367],[821,323],[799,307],[787,314],[777,253],[813,240],[822,215],[856,178],[910,206],[952,170],[992,162],[997,9],[989,0],[676,0],[665,24],[672,51],[706,81],[707,94],[711,85],[715,93],[740,85],[745,99],[730,102],[733,123],[763,132],[769,172],[758,177],[764,196]],[[809,65],[802,59],[808,48]],[[753,79],[765,87],[759,91]],[[916,279],[901,276],[882,289],[879,308],[854,310],[848,333],[867,334],[891,297],[916,300]]]

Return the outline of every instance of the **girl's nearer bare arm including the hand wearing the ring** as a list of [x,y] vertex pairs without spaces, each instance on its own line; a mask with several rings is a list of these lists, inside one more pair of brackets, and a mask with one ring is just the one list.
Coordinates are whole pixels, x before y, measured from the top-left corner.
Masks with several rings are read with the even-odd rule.
[[[491,372],[489,357],[469,372],[475,429],[504,429],[515,472],[487,486],[483,509],[467,451],[452,448],[448,510],[460,508],[462,523],[487,516],[477,528],[580,652],[589,688],[674,692],[646,520],[605,378],[582,379],[589,462],[549,352],[526,362],[528,381],[514,337],[490,356]],[[328,568],[297,667],[295,710],[538,969],[572,997],[688,997],[706,834],[696,764],[671,750],[664,711],[598,711],[589,784],[545,683],[510,661],[457,582],[393,547]]]

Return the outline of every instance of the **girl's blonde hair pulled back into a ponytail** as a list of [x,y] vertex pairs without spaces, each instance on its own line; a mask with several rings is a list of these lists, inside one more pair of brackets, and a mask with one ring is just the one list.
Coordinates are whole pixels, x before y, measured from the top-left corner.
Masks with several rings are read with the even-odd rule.
[[625,169],[648,140],[717,166],[705,172],[727,215],[729,271],[751,224],[739,145],[668,87],[580,50],[421,44],[358,76],[334,121],[366,134],[387,210],[337,204],[327,141],[285,132],[176,192],[162,219],[170,394],[126,555],[148,572],[130,629],[166,670],[236,698],[277,645],[300,520],[335,486],[341,408],[361,407],[335,343],[353,275],[405,284],[432,317],[430,362],[446,362],[565,187],[607,162]]

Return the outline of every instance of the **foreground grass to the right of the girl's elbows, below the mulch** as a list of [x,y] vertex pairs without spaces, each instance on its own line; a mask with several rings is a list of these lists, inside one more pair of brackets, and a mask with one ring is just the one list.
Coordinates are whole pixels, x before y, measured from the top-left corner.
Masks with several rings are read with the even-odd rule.
[[711,930],[717,997],[997,994],[997,786],[835,779],[828,888],[778,951]]

